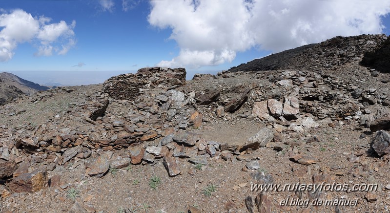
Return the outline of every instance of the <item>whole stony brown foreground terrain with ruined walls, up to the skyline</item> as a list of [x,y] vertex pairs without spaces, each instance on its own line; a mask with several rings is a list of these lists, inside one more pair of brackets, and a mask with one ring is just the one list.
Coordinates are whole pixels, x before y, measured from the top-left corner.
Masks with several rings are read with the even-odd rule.
[[[390,76],[362,66],[385,41],[335,37],[191,81],[185,68],[147,67],[20,96],[0,106],[0,209],[387,211]],[[251,190],[323,182],[379,189]]]

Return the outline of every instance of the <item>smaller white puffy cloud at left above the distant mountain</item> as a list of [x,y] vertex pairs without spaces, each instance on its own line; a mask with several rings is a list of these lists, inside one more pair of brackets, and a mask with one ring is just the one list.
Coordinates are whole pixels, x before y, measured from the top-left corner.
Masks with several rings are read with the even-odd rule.
[[63,55],[76,44],[73,31],[76,21],[71,24],[65,21],[49,23],[50,18],[32,17],[20,9],[11,13],[0,12],[0,62],[11,60],[20,43],[37,45],[36,56]]

